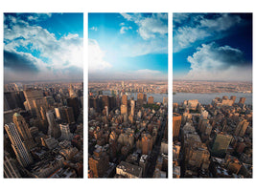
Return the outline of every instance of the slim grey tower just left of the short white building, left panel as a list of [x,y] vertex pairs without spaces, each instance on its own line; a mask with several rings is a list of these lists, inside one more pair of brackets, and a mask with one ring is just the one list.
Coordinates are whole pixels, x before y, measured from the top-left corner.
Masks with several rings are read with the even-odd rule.
[[48,111],[46,113],[46,117],[48,120],[49,128],[48,128],[48,135],[53,138],[59,138],[61,136],[60,130],[58,128],[58,124],[55,121],[55,116],[53,112]]

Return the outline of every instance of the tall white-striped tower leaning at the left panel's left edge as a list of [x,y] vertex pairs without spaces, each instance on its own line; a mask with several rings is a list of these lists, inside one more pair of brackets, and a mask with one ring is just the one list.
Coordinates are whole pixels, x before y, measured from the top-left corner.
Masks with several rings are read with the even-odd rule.
[[13,151],[16,155],[16,159],[18,160],[20,165],[26,167],[26,166],[30,165],[31,163],[33,163],[33,159],[31,157],[26,145],[20,138],[20,135],[18,133],[17,128],[15,127],[15,124],[12,122],[9,124],[5,124],[5,129],[6,129],[6,132],[9,136],[9,138],[11,139],[12,149],[13,149]]

